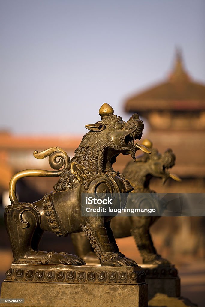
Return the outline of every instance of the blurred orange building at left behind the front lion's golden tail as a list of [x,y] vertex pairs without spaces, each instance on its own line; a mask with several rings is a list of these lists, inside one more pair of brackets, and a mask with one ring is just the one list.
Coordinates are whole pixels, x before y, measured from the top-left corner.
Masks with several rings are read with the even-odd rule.
[[[8,198],[9,181],[11,177],[23,169],[51,169],[48,158],[39,160],[33,155],[49,147],[59,146],[70,157],[78,147],[81,136],[73,135],[14,135],[0,132],[0,203],[10,204]],[[57,178],[29,177],[17,182],[17,195],[20,201],[36,201],[46,192],[53,190]]]

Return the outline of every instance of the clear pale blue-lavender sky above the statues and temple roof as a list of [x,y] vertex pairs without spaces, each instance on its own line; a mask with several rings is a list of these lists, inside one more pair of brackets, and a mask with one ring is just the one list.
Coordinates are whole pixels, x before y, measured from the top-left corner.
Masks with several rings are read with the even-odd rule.
[[[203,0],[0,0],[0,129],[85,133],[170,72],[205,82]],[[124,116],[128,118],[127,115]]]

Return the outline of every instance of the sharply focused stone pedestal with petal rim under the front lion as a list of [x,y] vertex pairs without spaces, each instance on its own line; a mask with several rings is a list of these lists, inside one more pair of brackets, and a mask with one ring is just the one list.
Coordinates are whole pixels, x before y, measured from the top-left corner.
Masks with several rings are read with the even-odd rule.
[[141,267],[12,264],[1,299],[24,299],[1,307],[147,307]]

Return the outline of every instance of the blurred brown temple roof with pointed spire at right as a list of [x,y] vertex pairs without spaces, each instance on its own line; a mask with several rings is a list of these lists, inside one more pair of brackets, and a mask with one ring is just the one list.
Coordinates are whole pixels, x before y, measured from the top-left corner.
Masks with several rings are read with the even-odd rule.
[[171,74],[163,83],[132,96],[125,102],[126,112],[205,110],[205,84],[187,74],[181,53],[176,52]]

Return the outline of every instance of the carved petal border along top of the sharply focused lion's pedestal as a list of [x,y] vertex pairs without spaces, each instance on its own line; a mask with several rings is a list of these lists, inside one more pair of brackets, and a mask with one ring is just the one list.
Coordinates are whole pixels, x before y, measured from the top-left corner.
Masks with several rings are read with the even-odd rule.
[[10,268],[6,272],[6,280],[10,282],[58,282],[58,283],[118,283],[140,284],[145,283],[143,271],[84,269],[54,269],[45,267],[35,268]]

